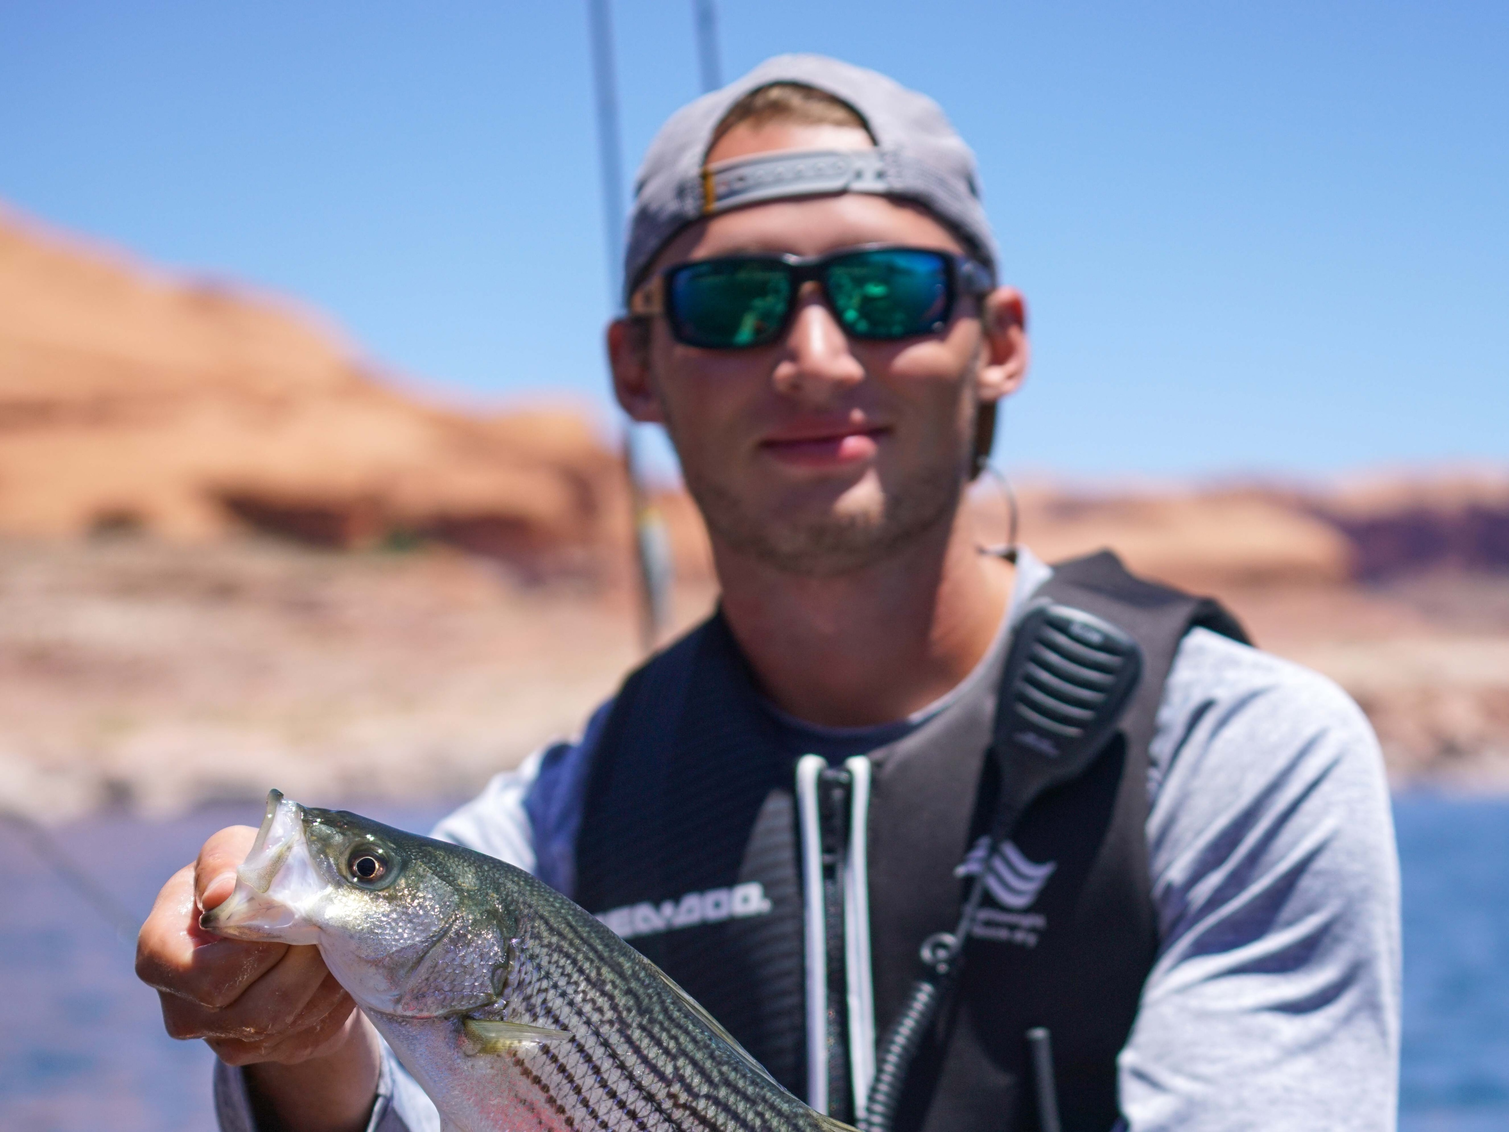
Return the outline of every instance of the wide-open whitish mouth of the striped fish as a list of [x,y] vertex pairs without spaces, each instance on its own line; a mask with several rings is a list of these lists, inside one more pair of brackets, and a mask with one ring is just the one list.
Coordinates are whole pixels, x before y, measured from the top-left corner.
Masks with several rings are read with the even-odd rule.
[[311,913],[327,891],[309,856],[303,806],[273,789],[257,841],[235,871],[235,887],[199,916],[199,927],[231,939],[314,943],[320,930]]

